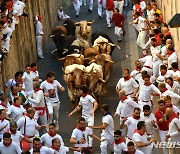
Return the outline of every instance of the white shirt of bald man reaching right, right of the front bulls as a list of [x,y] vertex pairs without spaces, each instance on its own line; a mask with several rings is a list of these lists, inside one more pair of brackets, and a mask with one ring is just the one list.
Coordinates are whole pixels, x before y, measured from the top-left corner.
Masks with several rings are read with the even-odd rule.
[[130,117],[136,107],[139,108],[139,104],[134,102],[131,98],[127,98],[126,100],[119,102],[116,114],[120,115],[120,117]]

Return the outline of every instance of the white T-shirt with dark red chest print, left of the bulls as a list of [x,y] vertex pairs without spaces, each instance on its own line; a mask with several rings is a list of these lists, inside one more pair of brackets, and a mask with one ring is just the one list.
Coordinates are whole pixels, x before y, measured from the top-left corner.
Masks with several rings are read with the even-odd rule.
[[58,87],[62,87],[62,85],[57,81],[54,80],[53,83],[49,83],[46,80],[41,83],[40,88],[44,90],[45,93],[49,93],[49,97],[45,97],[46,101],[50,102],[59,102],[58,98]]

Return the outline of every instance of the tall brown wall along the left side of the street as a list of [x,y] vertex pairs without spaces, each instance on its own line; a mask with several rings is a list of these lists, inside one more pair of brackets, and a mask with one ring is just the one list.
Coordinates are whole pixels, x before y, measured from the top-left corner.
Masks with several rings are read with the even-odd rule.
[[44,40],[49,37],[52,27],[57,22],[57,9],[67,7],[71,0],[28,0],[25,11],[28,17],[21,17],[11,39],[10,53],[2,62],[0,72],[0,88],[13,77],[18,70],[24,70],[25,65],[37,60],[34,16],[42,16]]

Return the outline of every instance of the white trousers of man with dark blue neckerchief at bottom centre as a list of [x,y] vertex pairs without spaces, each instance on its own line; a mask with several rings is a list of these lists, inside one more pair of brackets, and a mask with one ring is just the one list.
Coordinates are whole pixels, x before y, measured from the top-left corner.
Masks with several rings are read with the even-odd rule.
[[108,136],[108,137],[101,137],[101,139],[106,139],[105,141],[101,142],[100,148],[101,148],[101,154],[107,154],[107,148],[109,148],[111,151],[114,149],[114,136]]

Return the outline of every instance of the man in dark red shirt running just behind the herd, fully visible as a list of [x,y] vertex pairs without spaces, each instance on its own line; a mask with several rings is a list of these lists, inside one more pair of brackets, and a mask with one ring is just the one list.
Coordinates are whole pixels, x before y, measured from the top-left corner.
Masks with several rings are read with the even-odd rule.
[[115,23],[114,33],[118,36],[118,42],[121,42],[121,37],[124,33],[124,21],[125,17],[119,13],[119,9],[115,8],[111,23]]

